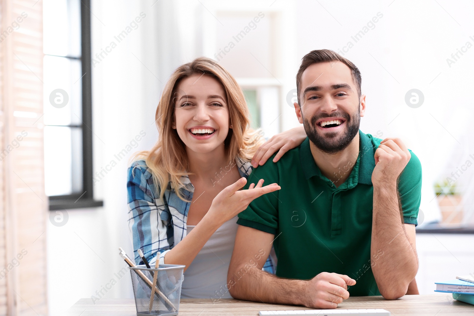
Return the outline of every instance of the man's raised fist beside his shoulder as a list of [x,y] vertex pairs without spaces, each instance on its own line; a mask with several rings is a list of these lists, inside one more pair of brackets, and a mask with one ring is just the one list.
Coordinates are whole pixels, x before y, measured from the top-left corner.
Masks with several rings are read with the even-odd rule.
[[399,138],[385,138],[375,150],[375,168],[372,184],[377,186],[396,185],[397,178],[410,161],[411,154]]

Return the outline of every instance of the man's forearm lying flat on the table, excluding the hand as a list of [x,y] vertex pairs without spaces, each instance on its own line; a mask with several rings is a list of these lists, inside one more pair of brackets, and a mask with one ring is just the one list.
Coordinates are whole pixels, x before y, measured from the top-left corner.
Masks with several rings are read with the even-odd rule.
[[[231,267],[232,268],[232,267]],[[230,270],[229,270],[230,271]],[[240,266],[237,273],[228,275],[233,298],[286,305],[304,305],[302,300],[305,280],[278,278],[258,267]]]

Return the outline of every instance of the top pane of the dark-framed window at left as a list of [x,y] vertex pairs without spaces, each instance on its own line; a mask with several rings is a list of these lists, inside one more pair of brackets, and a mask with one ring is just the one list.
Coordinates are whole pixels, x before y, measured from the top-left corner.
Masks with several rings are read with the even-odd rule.
[[81,57],[81,1],[43,1],[45,54]]

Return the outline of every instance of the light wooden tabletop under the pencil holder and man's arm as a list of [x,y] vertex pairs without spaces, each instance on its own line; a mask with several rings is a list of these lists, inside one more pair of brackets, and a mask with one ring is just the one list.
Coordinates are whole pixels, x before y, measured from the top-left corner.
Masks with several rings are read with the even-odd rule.
[[[474,316],[474,306],[454,300],[446,295],[406,295],[396,300],[385,300],[381,296],[351,297],[339,304],[341,309],[383,308],[393,316]],[[257,316],[261,310],[309,309],[301,306],[274,305],[220,299],[213,304],[211,299],[182,299],[180,316]],[[67,313],[67,316],[135,316],[135,302],[130,298],[102,298],[92,303],[91,298],[81,298]]]

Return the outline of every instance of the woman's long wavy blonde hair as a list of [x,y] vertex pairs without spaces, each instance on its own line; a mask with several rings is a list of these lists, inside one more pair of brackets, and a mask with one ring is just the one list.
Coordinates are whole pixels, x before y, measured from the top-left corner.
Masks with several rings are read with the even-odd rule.
[[237,81],[222,66],[210,58],[198,57],[191,63],[178,67],[164,87],[163,94],[155,113],[155,122],[158,127],[158,141],[149,151],[136,153],[132,160],[145,159],[146,166],[151,170],[157,194],[163,199],[164,191],[171,184],[176,195],[185,200],[180,192],[184,188],[182,176],[189,175],[188,157],[185,145],[179,137],[174,122],[174,97],[177,96],[179,83],[194,74],[207,74],[220,82],[226,92],[227,104],[232,128],[224,145],[227,159],[230,162],[236,159],[250,161],[263,143],[262,132],[249,128],[249,111],[244,93]]

